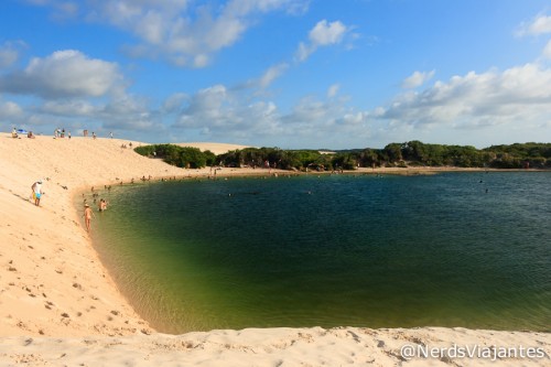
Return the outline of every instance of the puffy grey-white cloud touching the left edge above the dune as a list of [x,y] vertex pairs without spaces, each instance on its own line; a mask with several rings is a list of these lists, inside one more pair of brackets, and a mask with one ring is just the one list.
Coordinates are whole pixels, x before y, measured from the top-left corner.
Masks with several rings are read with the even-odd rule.
[[45,99],[99,97],[114,91],[121,80],[117,64],[66,50],[35,57],[23,71],[1,76],[0,90]]

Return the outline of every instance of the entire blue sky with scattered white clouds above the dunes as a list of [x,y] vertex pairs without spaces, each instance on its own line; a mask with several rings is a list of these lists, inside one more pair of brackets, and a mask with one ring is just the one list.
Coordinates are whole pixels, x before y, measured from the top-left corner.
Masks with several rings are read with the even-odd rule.
[[549,0],[1,0],[0,131],[551,142]]

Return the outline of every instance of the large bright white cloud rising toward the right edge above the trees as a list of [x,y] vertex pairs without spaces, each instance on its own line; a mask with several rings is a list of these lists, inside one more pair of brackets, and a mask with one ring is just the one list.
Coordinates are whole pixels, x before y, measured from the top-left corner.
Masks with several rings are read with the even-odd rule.
[[551,116],[551,69],[526,64],[436,82],[396,98],[378,117],[399,125],[484,127],[532,123]]

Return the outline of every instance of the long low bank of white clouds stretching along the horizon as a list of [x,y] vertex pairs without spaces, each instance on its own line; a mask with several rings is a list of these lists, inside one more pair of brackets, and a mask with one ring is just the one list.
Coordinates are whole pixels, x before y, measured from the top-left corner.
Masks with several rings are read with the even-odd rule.
[[[126,129],[161,136],[168,131],[163,119],[169,122],[168,118],[175,118],[174,136],[185,131],[202,133],[204,139],[282,143],[283,148],[320,148],[316,142],[324,147],[367,147],[374,137],[389,142],[412,136],[445,143],[458,143],[454,139],[473,143],[487,140],[488,133],[499,142],[507,139],[507,131],[515,137],[529,137],[521,134],[523,131],[539,131],[541,139],[551,139],[551,69],[540,64],[454,76],[422,91],[404,93],[386,108],[371,111],[346,106],[347,99],[337,97],[336,84],[327,89],[325,100],[305,97],[289,112],[282,112],[273,101],[257,100],[253,93],[244,98],[244,90],[247,91],[214,85],[194,95],[175,94],[159,110],[129,96],[105,106],[79,100],[47,101],[35,109],[43,115],[34,120],[44,120],[46,114],[73,115],[101,121],[105,131]],[[477,140],[483,130],[486,138]],[[441,138],[435,138],[436,133],[442,133]]]

